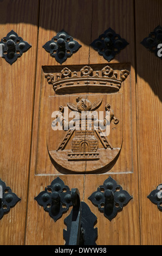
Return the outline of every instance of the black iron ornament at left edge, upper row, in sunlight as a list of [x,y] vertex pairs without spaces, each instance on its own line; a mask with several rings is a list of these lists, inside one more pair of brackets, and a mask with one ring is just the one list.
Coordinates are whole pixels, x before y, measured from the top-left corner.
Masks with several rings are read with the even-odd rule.
[[31,45],[24,41],[16,32],[11,30],[7,36],[1,39],[2,57],[12,65],[17,58],[21,57],[23,52],[29,50]]

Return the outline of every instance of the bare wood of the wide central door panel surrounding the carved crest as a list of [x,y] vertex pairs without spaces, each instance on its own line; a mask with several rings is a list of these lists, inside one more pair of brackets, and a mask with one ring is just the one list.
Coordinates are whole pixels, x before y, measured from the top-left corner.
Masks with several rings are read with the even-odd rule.
[[[120,11],[119,11],[120,10]],[[63,18],[62,18],[63,17]],[[44,26],[44,22],[46,25]],[[131,107],[129,117],[125,117],[124,145],[123,153],[127,159],[117,164],[116,173],[119,172],[121,165],[124,166],[124,172],[111,172],[112,176],[119,184],[127,190],[133,200],[119,212],[112,222],[109,222],[100,214],[97,208],[87,199],[92,192],[96,190],[103,181],[108,178],[108,174],[101,175],[72,175],[59,174],[55,172],[55,168],[51,166],[51,162],[47,152],[47,134],[46,134],[46,113],[47,101],[44,100],[47,91],[51,87],[44,78],[42,66],[44,69],[53,66],[60,66],[54,58],[50,57],[42,45],[50,40],[62,28],[73,36],[82,47],[63,63],[64,66],[70,65],[87,65],[87,64],[108,64],[105,59],[99,56],[98,52],[89,48],[90,42],[98,38],[100,33],[104,32],[108,27],[112,27],[116,33],[125,38],[128,45],[125,50],[116,56],[112,63],[122,63],[122,66],[129,65],[131,75],[129,83],[125,84],[128,89],[124,90],[124,109]],[[48,28],[48,29],[45,29]],[[46,91],[47,90],[47,91]],[[53,90],[53,89],[51,89]],[[49,92],[48,92],[49,93]],[[88,93],[86,94],[88,97]],[[127,103],[129,102],[129,104]],[[135,71],[134,71],[134,23],[133,23],[133,1],[41,1],[40,6],[40,28],[38,34],[38,58],[36,72],[36,89],[35,89],[35,105],[34,105],[34,124],[33,124],[33,141],[31,148],[31,165],[30,165],[30,182],[28,197],[28,215],[27,215],[27,233],[25,237],[26,245],[63,245],[63,219],[57,222],[49,217],[41,206],[35,201],[34,197],[44,190],[57,175],[71,188],[79,188],[81,200],[85,201],[90,209],[98,217],[98,245],[138,245],[140,244],[140,227],[139,227],[139,191],[138,191],[138,158],[137,158],[137,122],[136,122],[136,91],[135,91]],[[41,125],[42,136],[38,136],[38,124],[40,118],[43,120]],[[131,123],[131,124],[130,124]],[[132,126],[132,133],[129,134],[127,126]],[[44,128],[45,129],[44,129]],[[44,135],[43,135],[44,131]],[[127,138],[127,139],[126,139]],[[40,150],[37,155],[38,143],[41,141]],[[130,151],[130,142],[133,145]],[[39,159],[39,160],[38,160]],[[127,163],[133,159],[133,169],[131,173],[128,171]],[[37,162],[39,161],[39,162]],[[36,170],[36,164],[39,168]],[[40,165],[39,165],[40,164]],[[48,167],[48,172],[44,167]],[[130,166],[129,166],[130,170]],[[55,173],[55,175],[54,175]],[[69,214],[69,211],[64,217]],[[59,235],[58,235],[59,233]],[[121,235],[124,234],[124,235]]]

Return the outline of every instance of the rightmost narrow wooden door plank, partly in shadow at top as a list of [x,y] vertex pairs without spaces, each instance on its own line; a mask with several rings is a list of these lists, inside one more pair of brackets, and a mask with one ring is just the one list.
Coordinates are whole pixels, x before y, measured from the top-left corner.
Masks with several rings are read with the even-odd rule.
[[135,1],[142,245],[161,245],[162,215],[147,198],[162,180],[162,63],[140,42],[161,25],[161,1]]

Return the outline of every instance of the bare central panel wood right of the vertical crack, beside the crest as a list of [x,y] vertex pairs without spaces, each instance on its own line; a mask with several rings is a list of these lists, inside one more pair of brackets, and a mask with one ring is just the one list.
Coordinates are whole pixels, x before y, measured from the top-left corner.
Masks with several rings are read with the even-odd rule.
[[[117,167],[114,166],[107,174],[86,175],[85,200],[98,217],[98,223],[96,224],[96,227],[98,227],[98,240],[96,243],[98,245],[140,245],[133,1],[93,1],[92,41],[109,27],[129,42],[129,45],[124,50],[121,50],[111,61],[111,63],[120,62],[123,67],[126,66],[127,62],[131,65],[130,81],[128,84],[124,84],[124,91],[122,91],[124,97],[123,151],[121,150],[119,159],[116,161],[115,166]],[[99,56],[98,52],[93,48],[90,48],[89,64],[96,62],[105,63],[105,59]],[[130,99],[131,102],[129,103]],[[127,109],[132,109],[131,120]],[[130,125],[132,126],[132,133],[128,136],[128,127]],[[133,145],[132,153],[129,150],[129,143]],[[127,156],[126,161],[124,155]],[[132,173],[127,173],[127,164],[131,158],[133,159]],[[114,169],[119,171],[121,166],[125,166],[125,172],[116,174]],[[102,185],[109,175],[133,196],[133,200],[111,222],[87,200],[88,196],[96,191],[96,188]]]

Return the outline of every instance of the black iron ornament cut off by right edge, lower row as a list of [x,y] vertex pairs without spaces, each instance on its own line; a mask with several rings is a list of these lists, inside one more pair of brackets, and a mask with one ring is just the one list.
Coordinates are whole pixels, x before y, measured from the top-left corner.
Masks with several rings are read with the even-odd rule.
[[156,190],[153,190],[148,196],[153,204],[158,206],[158,209],[162,211],[162,184],[157,186]]

